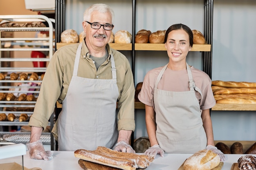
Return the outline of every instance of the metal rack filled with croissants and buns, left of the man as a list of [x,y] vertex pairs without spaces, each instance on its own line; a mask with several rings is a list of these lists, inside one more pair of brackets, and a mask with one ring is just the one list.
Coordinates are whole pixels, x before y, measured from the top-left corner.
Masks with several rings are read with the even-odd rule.
[[[17,126],[16,130],[20,131],[19,126],[28,125],[34,111],[47,63],[55,50],[54,20],[45,15],[0,15],[0,20],[6,21],[0,24],[0,126],[4,126],[0,136],[1,139],[16,143],[16,137],[22,138],[26,134],[14,134],[10,127]],[[47,32],[47,35],[40,37],[38,31]],[[12,36],[7,37],[7,33]],[[44,51],[48,55],[34,58],[31,57],[31,51]],[[46,64],[33,67],[33,63],[38,62]],[[54,124],[54,117],[49,124]],[[47,133],[47,138],[44,144],[51,143],[50,133]],[[27,142],[29,137],[21,143]],[[52,142],[53,148],[54,140]]]

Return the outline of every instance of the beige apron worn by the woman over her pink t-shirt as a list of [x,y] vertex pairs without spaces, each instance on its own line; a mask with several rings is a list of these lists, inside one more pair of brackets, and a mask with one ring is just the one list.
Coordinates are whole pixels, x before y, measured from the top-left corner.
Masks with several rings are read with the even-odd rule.
[[167,65],[159,73],[154,91],[157,142],[166,153],[195,153],[205,149],[207,137],[195,90],[201,96],[202,92],[195,86],[188,64],[186,64],[186,69],[190,91],[171,92],[157,89],[166,68]]

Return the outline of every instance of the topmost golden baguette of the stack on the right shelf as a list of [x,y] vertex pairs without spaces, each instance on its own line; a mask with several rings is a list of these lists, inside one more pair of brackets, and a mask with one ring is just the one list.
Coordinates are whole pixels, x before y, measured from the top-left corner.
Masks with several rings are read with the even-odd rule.
[[212,81],[211,85],[230,87],[230,88],[241,88],[241,87],[256,87],[256,83],[253,82],[237,82],[237,81]]

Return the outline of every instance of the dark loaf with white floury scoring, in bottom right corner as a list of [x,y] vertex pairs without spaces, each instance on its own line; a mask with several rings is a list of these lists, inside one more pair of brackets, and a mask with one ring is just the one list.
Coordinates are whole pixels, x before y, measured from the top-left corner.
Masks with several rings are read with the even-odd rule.
[[256,170],[256,157],[245,155],[238,159],[239,170]]

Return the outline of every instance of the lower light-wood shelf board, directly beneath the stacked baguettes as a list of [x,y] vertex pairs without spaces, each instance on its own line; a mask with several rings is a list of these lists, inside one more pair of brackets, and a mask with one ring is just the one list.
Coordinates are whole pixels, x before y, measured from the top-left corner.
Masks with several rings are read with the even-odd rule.
[[[57,108],[62,105],[57,102]],[[145,109],[145,104],[142,102],[134,102],[135,109]],[[216,104],[211,110],[215,111],[256,111],[256,104]]]

